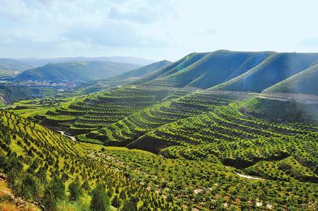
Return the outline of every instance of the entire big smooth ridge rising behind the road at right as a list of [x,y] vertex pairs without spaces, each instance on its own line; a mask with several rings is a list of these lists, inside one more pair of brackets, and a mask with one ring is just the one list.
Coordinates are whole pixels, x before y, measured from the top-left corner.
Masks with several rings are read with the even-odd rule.
[[[172,64],[152,70],[146,76],[143,74],[143,78],[136,80],[135,83],[178,88],[261,92],[314,66],[317,64],[317,59],[318,54],[309,53],[230,52],[226,50],[192,53]],[[155,64],[151,66],[153,65]],[[148,67],[151,66],[143,67],[141,70],[148,70]],[[122,80],[133,73],[134,71],[131,71],[127,73],[127,76],[123,74],[114,79]],[[309,78],[310,74],[304,75],[306,75],[305,78]],[[304,77],[302,78],[300,80],[305,80]],[[309,87],[309,85],[305,86]],[[312,88],[312,90],[314,92],[317,89]],[[300,91],[303,90],[301,88],[300,90],[293,89],[293,92]]]

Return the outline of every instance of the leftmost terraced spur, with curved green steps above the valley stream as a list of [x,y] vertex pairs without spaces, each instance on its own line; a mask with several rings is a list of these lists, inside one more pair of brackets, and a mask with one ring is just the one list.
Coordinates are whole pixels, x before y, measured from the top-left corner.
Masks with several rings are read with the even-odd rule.
[[72,104],[34,118],[41,119],[45,126],[66,131],[69,135],[88,133],[160,102],[168,92],[168,90],[149,92],[139,88],[107,90],[78,98]]

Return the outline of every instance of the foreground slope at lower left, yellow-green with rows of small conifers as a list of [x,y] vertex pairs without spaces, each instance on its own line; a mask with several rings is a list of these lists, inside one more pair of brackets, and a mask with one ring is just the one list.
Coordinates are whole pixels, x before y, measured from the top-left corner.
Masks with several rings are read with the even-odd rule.
[[[146,191],[136,179],[111,169],[110,164],[87,157],[83,147],[70,138],[8,111],[0,110],[0,118],[0,171],[8,176],[8,185],[15,195],[57,210],[75,204],[89,207],[87,187],[102,183],[110,201],[124,195],[120,205],[134,198],[139,206],[144,202],[146,207],[162,210],[167,206],[160,195]],[[80,191],[78,183],[86,188]],[[71,203],[66,195],[71,201],[78,201]],[[172,203],[170,206],[177,208]]]

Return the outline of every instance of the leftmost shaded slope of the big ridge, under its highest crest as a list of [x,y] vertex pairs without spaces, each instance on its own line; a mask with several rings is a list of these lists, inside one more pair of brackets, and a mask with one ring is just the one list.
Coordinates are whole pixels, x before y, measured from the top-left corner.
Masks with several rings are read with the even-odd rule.
[[[219,50],[211,52],[203,59],[169,76],[156,79],[170,81],[177,87],[186,85],[196,88],[210,88],[240,76],[257,66],[273,52],[230,52]],[[153,83],[155,83],[155,81]]]

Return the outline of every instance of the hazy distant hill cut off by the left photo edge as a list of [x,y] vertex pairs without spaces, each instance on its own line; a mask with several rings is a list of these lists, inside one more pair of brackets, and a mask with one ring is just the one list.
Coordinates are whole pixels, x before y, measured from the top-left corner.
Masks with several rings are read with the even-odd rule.
[[20,71],[29,68],[34,68],[34,66],[23,61],[0,58],[0,76],[14,76],[20,73]]

